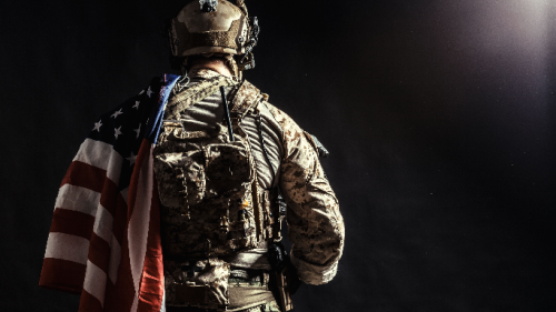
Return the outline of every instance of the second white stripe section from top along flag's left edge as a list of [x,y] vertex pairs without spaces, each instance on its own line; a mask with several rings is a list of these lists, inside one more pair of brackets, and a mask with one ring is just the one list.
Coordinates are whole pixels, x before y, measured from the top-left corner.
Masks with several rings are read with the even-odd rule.
[[100,201],[100,193],[87,188],[64,184],[58,191],[54,208],[62,208],[95,217],[97,205]]

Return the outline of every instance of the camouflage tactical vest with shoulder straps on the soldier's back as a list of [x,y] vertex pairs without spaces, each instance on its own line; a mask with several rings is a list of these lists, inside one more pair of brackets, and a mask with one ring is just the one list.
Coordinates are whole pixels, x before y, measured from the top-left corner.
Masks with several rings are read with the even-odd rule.
[[[186,131],[179,113],[227,85],[235,87],[227,97],[235,141],[225,120],[212,131]],[[264,98],[247,81],[238,85],[217,77],[168,102],[153,150],[160,201],[171,220],[162,229],[165,258],[226,255],[281,240],[278,192],[259,185],[249,139],[241,128],[241,120],[257,113]]]

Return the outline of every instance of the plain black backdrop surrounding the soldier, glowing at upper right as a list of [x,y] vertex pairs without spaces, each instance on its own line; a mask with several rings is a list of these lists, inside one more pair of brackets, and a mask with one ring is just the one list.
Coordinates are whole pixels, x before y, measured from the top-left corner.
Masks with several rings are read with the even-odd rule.
[[[1,311],[77,311],[38,286],[59,183],[169,71],[186,2],[1,2]],[[295,311],[555,311],[555,1],[247,4],[245,77],[331,152],[346,221],[337,278]]]

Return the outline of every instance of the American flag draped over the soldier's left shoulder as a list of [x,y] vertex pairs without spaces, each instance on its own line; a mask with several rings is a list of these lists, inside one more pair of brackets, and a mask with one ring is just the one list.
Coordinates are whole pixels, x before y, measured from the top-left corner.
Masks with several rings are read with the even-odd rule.
[[153,79],[102,115],[60,185],[39,284],[81,294],[80,312],[160,311],[152,148],[178,78]]

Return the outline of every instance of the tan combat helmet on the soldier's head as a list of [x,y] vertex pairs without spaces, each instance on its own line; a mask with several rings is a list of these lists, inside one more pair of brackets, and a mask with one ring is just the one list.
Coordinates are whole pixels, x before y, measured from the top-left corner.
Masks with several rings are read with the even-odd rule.
[[172,68],[181,68],[188,57],[197,54],[227,56],[237,64],[237,71],[255,67],[252,48],[258,40],[258,20],[249,19],[244,0],[235,2],[195,0],[167,22]]

